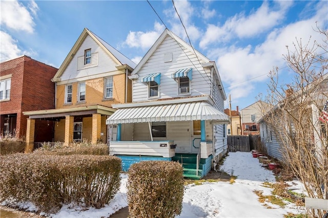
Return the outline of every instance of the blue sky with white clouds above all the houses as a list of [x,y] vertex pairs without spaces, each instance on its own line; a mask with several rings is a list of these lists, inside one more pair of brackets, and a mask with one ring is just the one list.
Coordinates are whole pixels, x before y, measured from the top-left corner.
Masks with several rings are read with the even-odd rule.
[[[20,55],[59,68],[88,28],[134,62],[167,27],[188,42],[172,1],[0,1],[1,62]],[[232,110],[267,92],[268,73],[293,72],[282,55],[296,38],[322,41],[328,1],[174,1],[192,46],[216,62]],[[228,101],[226,101],[226,107]]]

